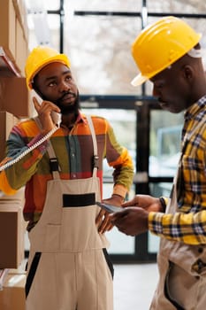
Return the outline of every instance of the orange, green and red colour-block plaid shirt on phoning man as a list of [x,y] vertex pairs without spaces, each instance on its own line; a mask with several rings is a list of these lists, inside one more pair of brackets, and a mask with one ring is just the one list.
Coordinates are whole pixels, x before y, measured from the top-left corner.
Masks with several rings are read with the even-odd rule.
[[[132,158],[125,147],[121,146],[110,123],[102,117],[92,116],[98,148],[98,171],[103,187],[103,159],[114,168],[113,194],[122,197],[133,182],[134,167]],[[15,159],[29,146],[39,141],[42,134],[34,119],[19,122],[11,130],[6,143],[6,159]],[[61,179],[82,179],[92,176],[93,143],[85,115],[79,116],[70,129],[61,126],[50,137],[60,166]],[[29,221],[28,229],[34,226],[41,214],[46,197],[47,182],[52,179],[50,159],[47,152],[48,142],[42,143],[11,167],[0,174],[0,190],[10,195],[26,185],[24,217]],[[103,188],[101,188],[103,190]]]

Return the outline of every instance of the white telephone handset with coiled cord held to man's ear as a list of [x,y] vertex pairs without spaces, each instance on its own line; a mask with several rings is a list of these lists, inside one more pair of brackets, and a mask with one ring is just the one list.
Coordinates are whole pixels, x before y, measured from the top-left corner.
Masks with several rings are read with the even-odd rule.
[[51,118],[52,118],[52,120],[56,126],[54,128],[52,128],[46,136],[43,136],[41,140],[37,141],[37,143],[34,143],[34,145],[30,146],[26,151],[23,151],[21,154],[19,154],[19,156],[16,159],[11,159],[7,163],[5,163],[3,166],[1,166],[0,171],[3,171],[4,169],[11,167],[13,164],[16,164],[20,159],[22,159],[24,156],[26,156],[30,151],[33,151],[34,149],[36,149],[44,141],[48,140],[50,138],[50,136],[52,136],[55,133],[55,131],[57,131],[57,129],[60,127],[60,123],[61,123],[61,114],[52,111],[50,113],[50,116],[51,116]]

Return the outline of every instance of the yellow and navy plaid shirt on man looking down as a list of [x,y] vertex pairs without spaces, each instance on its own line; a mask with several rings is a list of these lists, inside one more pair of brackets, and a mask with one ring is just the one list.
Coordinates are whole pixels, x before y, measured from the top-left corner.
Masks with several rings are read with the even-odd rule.
[[[205,121],[198,127],[202,118]],[[178,210],[174,214],[149,213],[149,230],[185,244],[206,244],[206,96],[185,113],[182,137],[186,143],[177,187]]]

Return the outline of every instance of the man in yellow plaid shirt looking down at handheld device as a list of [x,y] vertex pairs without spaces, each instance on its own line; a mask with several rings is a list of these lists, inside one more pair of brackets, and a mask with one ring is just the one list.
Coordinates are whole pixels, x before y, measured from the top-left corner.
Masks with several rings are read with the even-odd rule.
[[169,16],[143,29],[133,45],[141,71],[134,86],[150,80],[164,110],[185,111],[171,198],[137,195],[124,204],[126,210],[111,215],[127,235],[149,230],[161,237],[152,310],[206,305],[206,78],[200,39],[183,20]]

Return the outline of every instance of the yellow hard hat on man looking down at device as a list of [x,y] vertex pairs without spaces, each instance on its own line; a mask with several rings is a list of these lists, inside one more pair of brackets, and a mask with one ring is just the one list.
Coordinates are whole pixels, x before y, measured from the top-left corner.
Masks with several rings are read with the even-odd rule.
[[145,27],[132,45],[140,69],[132,84],[141,85],[187,54],[201,39],[182,19],[167,16]]

